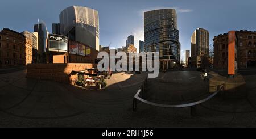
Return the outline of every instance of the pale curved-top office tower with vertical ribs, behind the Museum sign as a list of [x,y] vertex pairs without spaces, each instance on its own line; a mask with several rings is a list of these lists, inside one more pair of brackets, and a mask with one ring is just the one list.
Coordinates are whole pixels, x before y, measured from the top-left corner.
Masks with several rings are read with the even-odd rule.
[[83,6],[70,6],[60,13],[60,34],[100,50],[98,11]]

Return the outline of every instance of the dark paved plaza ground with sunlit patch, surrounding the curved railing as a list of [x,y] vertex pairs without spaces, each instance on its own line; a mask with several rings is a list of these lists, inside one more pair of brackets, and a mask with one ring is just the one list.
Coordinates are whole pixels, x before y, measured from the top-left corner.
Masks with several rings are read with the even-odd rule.
[[[255,75],[245,77],[248,98],[216,96],[197,106],[197,116],[190,116],[189,108],[143,103],[132,111],[133,96],[146,76],[115,73],[106,89],[92,91],[27,79],[26,70],[0,74],[0,127],[256,127]],[[184,85],[177,93],[204,85],[195,71],[159,73],[158,78],[169,82],[165,88]]]

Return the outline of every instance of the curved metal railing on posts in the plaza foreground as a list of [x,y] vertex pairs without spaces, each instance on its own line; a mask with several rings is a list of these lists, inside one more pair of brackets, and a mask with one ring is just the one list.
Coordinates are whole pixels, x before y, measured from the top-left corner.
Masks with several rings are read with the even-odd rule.
[[[137,93],[134,95],[133,97],[133,111],[136,111],[137,109],[137,100],[149,104],[151,106],[156,106],[156,107],[165,107],[165,108],[183,108],[183,107],[191,107],[191,115],[195,116],[196,115],[196,105],[197,104],[201,104],[203,102],[206,102],[207,100],[209,100],[210,98],[213,98],[213,96],[215,96],[216,94],[218,94],[218,92],[220,92],[221,90],[224,89],[224,84],[221,85],[217,85],[217,86],[209,86],[209,87],[217,87],[217,91],[213,92],[213,94],[209,95],[207,98],[201,99],[199,101],[196,102],[192,102],[192,103],[187,103],[187,104],[176,104],[176,105],[170,105],[170,104],[159,104],[159,103],[154,103],[154,102],[150,102],[148,100],[143,99],[143,92],[145,91],[145,86],[146,86],[146,82],[147,82],[147,78],[145,79],[145,81],[142,83],[141,89],[139,89],[137,91]],[[139,94],[141,94],[142,98],[139,97]]]

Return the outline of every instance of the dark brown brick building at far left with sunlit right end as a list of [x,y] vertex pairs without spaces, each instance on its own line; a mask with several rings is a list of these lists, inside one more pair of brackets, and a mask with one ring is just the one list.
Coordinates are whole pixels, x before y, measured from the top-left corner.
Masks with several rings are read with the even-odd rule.
[[3,28],[0,32],[0,68],[27,65],[31,61],[31,40],[22,33]]

